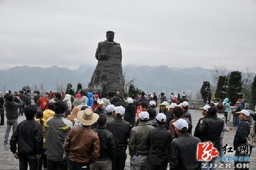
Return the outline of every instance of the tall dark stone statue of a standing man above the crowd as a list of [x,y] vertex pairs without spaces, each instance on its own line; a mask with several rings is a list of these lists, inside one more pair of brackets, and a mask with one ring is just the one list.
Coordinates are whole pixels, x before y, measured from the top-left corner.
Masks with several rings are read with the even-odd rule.
[[[114,42],[114,32],[106,32],[106,40],[98,43],[96,59],[98,64],[90,80],[89,89],[109,93],[109,97],[119,91],[123,92],[122,49]],[[99,89],[100,88],[100,89]]]

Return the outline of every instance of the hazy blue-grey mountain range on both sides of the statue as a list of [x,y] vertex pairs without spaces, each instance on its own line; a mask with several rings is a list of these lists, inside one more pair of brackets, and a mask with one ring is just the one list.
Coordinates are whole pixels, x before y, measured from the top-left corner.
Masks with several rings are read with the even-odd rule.
[[[57,88],[66,88],[68,82],[71,82],[76,90],[78,82],[82,86],[87,86],[92,77],[95,65],[81,65],[79,68],[71,70],[57,66],[49,68],[41,67],[14,67],[2,69],[0,71],[0,91],[20,90],[28,85],[33,89],[34,86],[40,86],[44,83],[44,90],[56,90]],[[189,92],[198,91],[203,81],[210,81],[210,69],[200,67],[193,68],[169,68],[167,66],[149,67],[125,65],[126,81],[134,78],[134,84],[139,89],[146,92]]]

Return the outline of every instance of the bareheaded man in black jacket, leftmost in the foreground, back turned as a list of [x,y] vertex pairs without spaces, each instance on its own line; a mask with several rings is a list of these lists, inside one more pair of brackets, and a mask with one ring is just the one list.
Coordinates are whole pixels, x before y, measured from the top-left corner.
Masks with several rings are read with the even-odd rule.
[[[14,157],[19,159],[19,169],[38,169],[43,149],[42,126],[35,121],[36,106],[29,105],[24,112],[26,120],[19,123],[10,140],[10,149]],[[17,152],[18,143],[18,152]]]

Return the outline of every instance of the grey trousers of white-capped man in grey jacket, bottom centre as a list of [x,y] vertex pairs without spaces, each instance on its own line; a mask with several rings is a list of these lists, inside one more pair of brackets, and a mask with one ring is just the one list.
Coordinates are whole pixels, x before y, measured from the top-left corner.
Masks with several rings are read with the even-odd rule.
[[131,157],[131,170],[147,170],[147,155],[133,155]]

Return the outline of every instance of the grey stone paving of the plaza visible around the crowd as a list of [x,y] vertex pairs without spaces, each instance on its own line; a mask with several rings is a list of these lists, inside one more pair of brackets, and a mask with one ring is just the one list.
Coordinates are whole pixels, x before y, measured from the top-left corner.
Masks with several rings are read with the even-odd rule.
[[[193,125],[193,131],[195,130],[196,123],[198,122],[199,118],[202,117],[200,110],[189,110],[192,115],[192,125]],[[19,117],[18,122],[21,122],[25,119],[25,116]],[[230,121],[232,120],[232,117],[230,118]],[[232,122],[227,123],[228,127],[233,127]],[[14,159],[13,154],[10,152],[9,148],[3,147],[3,138],[5,135],[5,129],[6,126],[0,127],[0,169],[18,169],[19,168],[19,161]],[[236,134],[237,128],[234,128],[229,131],[225,132],[224,135],[224,141],[223,144],[228,144],[229,146],[233,147],[233,139],[234,135]],[[12,132],[10,132],[11,137]],[[9,139],[10,139],[9,137]],[[234,153],[231,155],[226,156],[234,156]],[[220,159],[218,159],[218,162],[220,163]],[[126,159],[126,170],[130,169],[130,155],[128,154],[127,150],[127,159]],[[233,169],[233,168],[218,168],[218,169]],[[256,169],[256,149],[253,148],[253,152],[250,156],[250,169]]]

